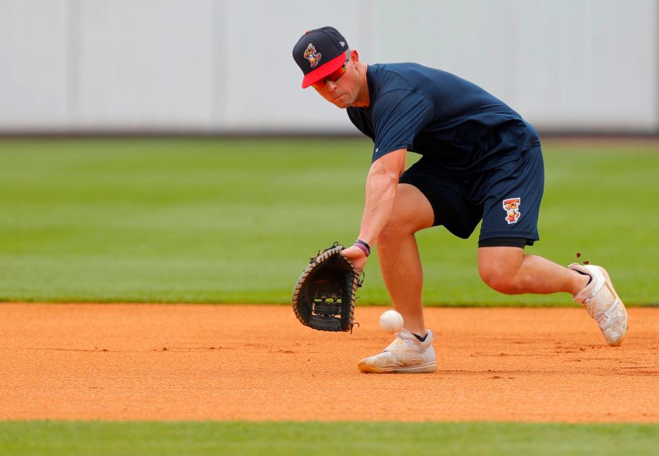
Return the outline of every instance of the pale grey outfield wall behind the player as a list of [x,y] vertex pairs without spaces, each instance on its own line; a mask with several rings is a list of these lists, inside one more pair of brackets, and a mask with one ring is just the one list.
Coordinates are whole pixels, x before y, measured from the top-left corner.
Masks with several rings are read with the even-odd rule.
[[290,56],[329,24],[540,130],[659,133],[659,0],[0,0],[0,133],[353,132]]

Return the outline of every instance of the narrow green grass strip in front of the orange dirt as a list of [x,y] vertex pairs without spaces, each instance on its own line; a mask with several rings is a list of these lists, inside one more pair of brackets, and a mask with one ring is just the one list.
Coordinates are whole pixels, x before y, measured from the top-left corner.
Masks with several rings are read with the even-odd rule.
[[656,455],[657,424],[0,422],[0,455]]

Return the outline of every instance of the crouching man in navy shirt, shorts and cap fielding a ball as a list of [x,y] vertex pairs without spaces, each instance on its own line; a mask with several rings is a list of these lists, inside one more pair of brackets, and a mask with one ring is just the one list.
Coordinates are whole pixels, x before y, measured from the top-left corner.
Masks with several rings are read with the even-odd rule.
[[[562,267],[524,254],[540,239],[544,188],[540,139],[502,101],[460,77],[415,63],[367,65],[333,27],[306,32],[293,48],[304,77],[373,139],[359,237],[343,250],[363,269],[378,244],[382,278],[405,327],[362,372],[434,372],[437,357],[421,304],[415,232],[444,226],[466,239],[483,220],[478,273],[506,294],[565,291],[597,322],[610,346],[627,333],[627,310],[607,272]],[[406,169],[407,151],[421,159]]]

